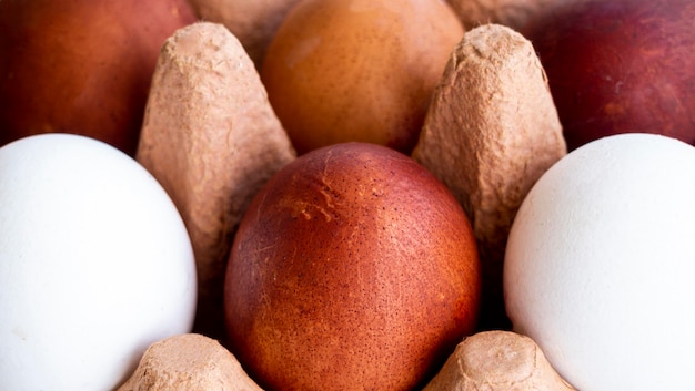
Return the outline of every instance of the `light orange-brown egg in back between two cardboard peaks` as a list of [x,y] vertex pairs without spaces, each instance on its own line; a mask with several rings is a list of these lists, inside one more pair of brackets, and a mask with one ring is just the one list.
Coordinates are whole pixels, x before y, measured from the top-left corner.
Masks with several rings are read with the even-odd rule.
[[359,141],[407,154],[462,37],[442,0],[303,0],[261,78],[299,153]]

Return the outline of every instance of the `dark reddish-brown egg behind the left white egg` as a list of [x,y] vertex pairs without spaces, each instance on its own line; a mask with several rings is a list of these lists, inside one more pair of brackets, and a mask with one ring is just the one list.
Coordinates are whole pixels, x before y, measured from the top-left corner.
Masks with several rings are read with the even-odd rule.
[[0,1],[0,146],[68,132],[134,154],[160,48],[185,0]]

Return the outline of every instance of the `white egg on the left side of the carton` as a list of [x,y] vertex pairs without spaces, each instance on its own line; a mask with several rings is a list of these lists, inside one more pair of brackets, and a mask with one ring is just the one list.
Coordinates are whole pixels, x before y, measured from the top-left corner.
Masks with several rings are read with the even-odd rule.
[[112,390],[189,332],[190,238],[134,160],[68,134],[0,148],[0,390]]

